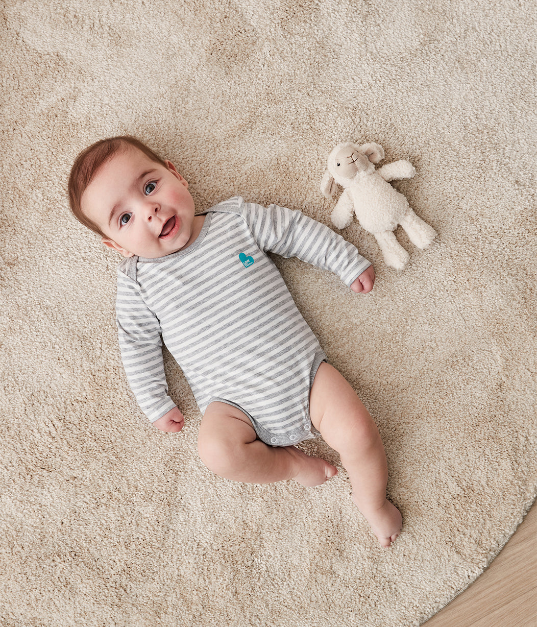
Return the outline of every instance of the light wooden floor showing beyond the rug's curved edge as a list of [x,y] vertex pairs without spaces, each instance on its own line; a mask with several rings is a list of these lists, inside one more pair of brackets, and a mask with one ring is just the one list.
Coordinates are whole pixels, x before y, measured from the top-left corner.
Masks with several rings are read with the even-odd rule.
[[537,503],[491,566],[425,627],[537,627]]

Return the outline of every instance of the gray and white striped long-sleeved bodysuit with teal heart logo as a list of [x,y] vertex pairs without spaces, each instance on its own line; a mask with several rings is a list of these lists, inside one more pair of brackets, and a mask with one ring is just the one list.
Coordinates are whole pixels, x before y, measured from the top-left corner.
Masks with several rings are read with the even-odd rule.
[[202,412],[212,401],[231,404],[272,446],[315,437],[310,388],[326,357],[266,251],[331,270],[347,285],[370,266],[355,246],[300,211],[242,198],[207,211],[188,248],[121,263],[122,360],[150,421],[175,407],[164,340]]

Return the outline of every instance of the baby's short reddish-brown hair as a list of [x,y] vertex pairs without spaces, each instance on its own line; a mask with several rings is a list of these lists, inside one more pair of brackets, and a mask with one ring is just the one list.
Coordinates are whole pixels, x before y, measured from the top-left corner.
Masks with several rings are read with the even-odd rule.
[[141,150],[151,161],[166,166],[159,155],[155,154],[153,150],[140,142],[140,140],[130,135],[120,135],[119,137],[108,137],[108,139],[102,139],[95,142],[95,144],[91,144],[85,150],[82,150],[78,157],[76,157],[73,167],[71,167],[68,184],[71,211],[80,223],[87,226],[88,229],[91,229],[91,231],[94,231],[101,237],[106,237],[106,235],[97,224],[87,218],[82,211],[82,194],[91,181],[93,181],[93,177],[98,172],[99,168],[102,167],[108,159],[112,159],[114,155],[119,152],[125,152],[129,146]]

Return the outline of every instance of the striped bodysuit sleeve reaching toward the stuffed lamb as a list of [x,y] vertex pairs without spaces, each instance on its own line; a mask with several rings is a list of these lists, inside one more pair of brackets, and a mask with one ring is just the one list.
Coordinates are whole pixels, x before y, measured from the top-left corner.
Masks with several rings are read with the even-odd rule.
[[350,242],[301,211],[244,203],[242,214],[264,251],[330,270],[347,286],[371,265]]

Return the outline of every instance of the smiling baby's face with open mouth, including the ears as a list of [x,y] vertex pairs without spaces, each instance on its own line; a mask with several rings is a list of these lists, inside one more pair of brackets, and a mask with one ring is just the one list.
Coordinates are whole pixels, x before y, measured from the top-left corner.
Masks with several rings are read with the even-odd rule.
[[82,194],[81,208],[107,236],[104,243],[125,257],[164,257],[195,240],[188,183],[166,164],[128,147],[103,164]]

